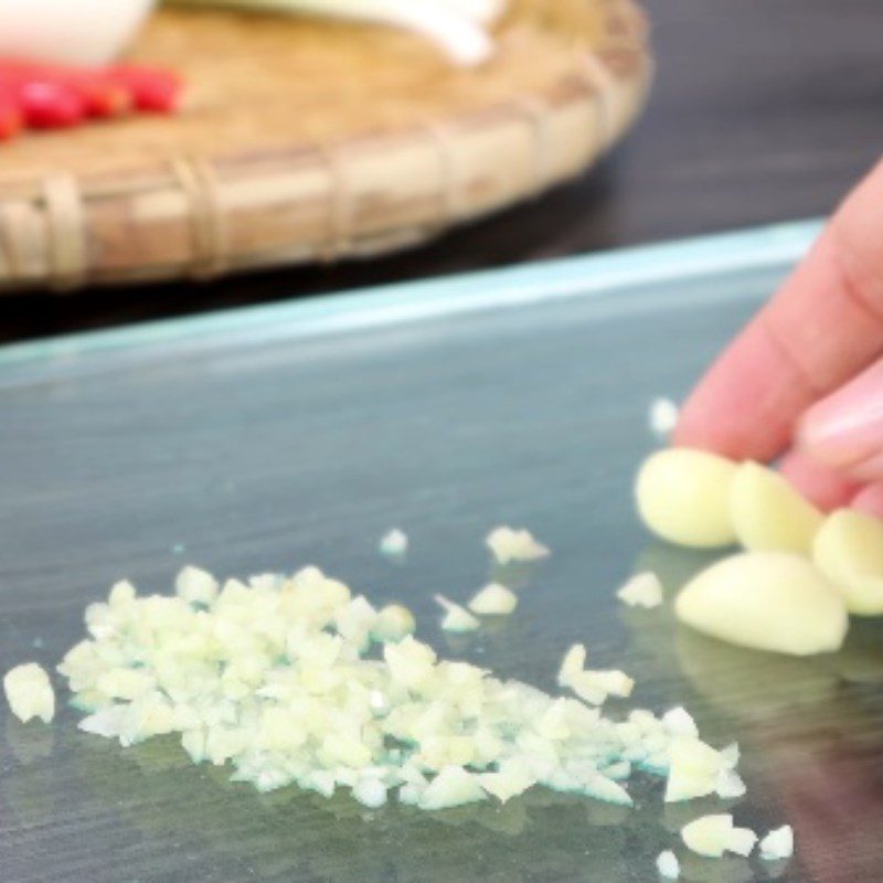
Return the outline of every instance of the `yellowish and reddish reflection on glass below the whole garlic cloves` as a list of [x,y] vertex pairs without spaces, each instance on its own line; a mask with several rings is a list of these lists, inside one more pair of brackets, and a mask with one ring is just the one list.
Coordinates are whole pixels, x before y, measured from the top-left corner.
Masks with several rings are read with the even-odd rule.
[[[671,600],[711,557],[655,544],[636,571],[653,570]],[[740,811],[762,831],[784,820],[794,825],[795,868],[765,864],[765,874],[820,883],[883,879],[881,624],[853,620],[840,652],[796,659],[705,638],[679,627],[670,607],[657,618],[623,616],[660,677],[683,675],[692,688],[691,710],[703,733],[721,743],[738,736],[749,786]],[[691,874],[684,866],[684,877]]]

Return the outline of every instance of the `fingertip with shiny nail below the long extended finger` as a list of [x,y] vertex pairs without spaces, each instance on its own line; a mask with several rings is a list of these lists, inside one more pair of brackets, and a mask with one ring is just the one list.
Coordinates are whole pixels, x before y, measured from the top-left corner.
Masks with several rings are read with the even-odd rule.
[[883,479],[883,359],[809,408],[797,444],[852,478]]

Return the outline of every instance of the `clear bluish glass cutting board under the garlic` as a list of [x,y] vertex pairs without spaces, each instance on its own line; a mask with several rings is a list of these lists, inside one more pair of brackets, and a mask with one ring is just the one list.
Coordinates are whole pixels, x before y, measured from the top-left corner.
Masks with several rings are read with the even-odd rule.
[[[816,230],[0,350],[0,669],[54,666],[120,577],[168,592],[183,563],[221,576],[316,563],[372,600],[402,599],[447,656],[552,690],[565,648],[585,641],[594,664],[637,678],[610,713],[684,704],[714,744],[737,738],[737,820],[790,821],[798,855],[684,858],[684,880],[880,881],[881,625],[795,661],[615,598],[645,568],[670,598],[711,558],[636,522],[648,405],[685,394]],[[514,575],[511,619],[446,636],[432,596],[487,581],[482,540],[500,523],[553,555]],[[376,551],[393,526],[411,536],[401,564]],[[260,796],[171,738],[124,751],[76,720],[63,706],[25,726],[0,710],[3,883],[652,883],[680,827],[721,806],[663,808],[640,780],[634,810],[538,788],[503,808],[372,812],[342,795]]]

